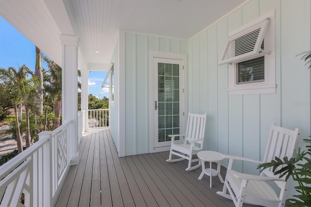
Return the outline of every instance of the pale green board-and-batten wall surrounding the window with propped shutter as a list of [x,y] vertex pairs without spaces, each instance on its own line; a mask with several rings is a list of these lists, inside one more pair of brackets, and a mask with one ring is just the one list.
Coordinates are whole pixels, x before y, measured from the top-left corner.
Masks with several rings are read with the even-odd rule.
[[[229,32],[275,11],[276,93],[228,95],[228,66],[218,65]],[[262,160],[272,122],[310,135],[310,0],[250,0],[188,42],[188,110],[207,113],[205,150]],[[226,166],[226,162],[223,164]],[[234,168],[258,173],[256,165]]]

